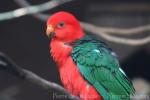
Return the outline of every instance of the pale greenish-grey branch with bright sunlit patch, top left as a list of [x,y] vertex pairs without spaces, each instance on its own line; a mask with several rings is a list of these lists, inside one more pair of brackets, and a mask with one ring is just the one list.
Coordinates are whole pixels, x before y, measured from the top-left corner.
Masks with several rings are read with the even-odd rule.
[[38,12],[46,11],[68,1],[70,0],[65,0],[65,1],[63,0],[63,2],[61,3],[58,3],[56,1],[48,1],[43,4],[23,7],[23,8],[13,10],[13,11],[0,13],[0,21],[9,20],[9,19],[13,19],[13,18],[25,16],[25,15],[30,15],[30,14],[35,14]]

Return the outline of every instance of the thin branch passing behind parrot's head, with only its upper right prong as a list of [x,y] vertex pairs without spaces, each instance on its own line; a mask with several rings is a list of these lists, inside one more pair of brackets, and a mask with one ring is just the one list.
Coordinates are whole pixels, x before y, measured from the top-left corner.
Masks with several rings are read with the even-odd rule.
[[[29,2],[27,2],[26,0],[14,0],[14,1],[21,7],[31,6],[29,4]],[[37,14],[33,14],[33,16],[40,20],[46,21],[50,15],[37,13]],[[112,27],[100,27],[100,26],[96,26],[94,24],[90,24],[90,23],[86,23],[86,22],[80,22],[80,23],[85,29],[88,29],[89,27],[91,29],[93,27],[95,30],[97,30],[97,32],[105,32],[105,33],[109,33],[109,34],[135,35],[135,34],[139,34],[140,32],[150,30],[150,25],[144,25],[144,26],[138,26],[138,27],[134,27],[134,28],[123,29],[123,28],[112,28]]]

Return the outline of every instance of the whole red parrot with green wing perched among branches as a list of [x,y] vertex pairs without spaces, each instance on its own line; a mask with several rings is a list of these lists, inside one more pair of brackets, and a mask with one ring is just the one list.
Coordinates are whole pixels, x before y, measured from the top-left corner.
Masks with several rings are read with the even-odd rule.
[[46,22],[49,52],[64,88],[81,100],[130,100],[135,89],[112,49],[86,34],[70,12],[58,11]]

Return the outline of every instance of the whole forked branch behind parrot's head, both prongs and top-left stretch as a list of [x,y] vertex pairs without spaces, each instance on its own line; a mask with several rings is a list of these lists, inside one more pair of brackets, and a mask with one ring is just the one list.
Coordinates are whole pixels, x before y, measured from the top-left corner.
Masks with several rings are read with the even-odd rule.
[[[26,0],[15,0],[15,2],[21,7],[31,6]],[[49,15],[37,13],[37,14],[33,14],[33,16],[40,20],[46,21]],[[144,45],[150,42],[150,37],[145,37],[142,39],[128,39],[128,38],[109,35],[109,34],[136,35],[139,34],[140,32],[149,31],[150,25],[139,26],[139,27],[129,28],[129,29],[120,29],[120,28],[100,27],[86,22],[80,22],[80,24],[86,31],[94,33],[95,35],[110,42],[121,43],[121,44],[132,45],[132,46]]]

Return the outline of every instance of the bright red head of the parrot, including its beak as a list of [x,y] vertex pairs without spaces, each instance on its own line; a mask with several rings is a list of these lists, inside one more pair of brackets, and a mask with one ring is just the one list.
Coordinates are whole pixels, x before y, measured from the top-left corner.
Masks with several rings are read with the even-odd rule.
[[62,42],[73,42],[84,36],[78,20],[68,12],[57,12],[47,21],[47,36]]

